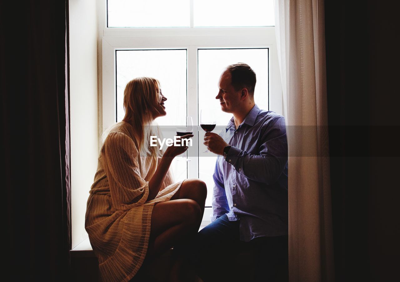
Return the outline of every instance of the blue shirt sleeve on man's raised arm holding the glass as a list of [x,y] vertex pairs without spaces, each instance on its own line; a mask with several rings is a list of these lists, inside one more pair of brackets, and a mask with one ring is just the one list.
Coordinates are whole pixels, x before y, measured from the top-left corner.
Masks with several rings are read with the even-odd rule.
[[245,150],[232,146],[225,160],[246,178],[270,185],[278,180],[288,161],[284,117],[270,118],[261,131],[259,154],[248,154]]

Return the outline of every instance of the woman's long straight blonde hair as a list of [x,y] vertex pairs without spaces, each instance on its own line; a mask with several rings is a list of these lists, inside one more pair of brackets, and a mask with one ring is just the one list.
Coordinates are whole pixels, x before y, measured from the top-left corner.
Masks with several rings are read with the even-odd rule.
[[[161,157],[162,150],[157,146],[150,146],[150,136],[162,138],[159,126],[154,123],[152,112],[159,103],[158,92],[160,82],[152,77],[137,77],[128,82],[124,90],[123,122],[128,122],[134,128],[138,138],[138,150],[141,156],[151,155]],[[110,128],[111,129],[111,128]],[[106,135],[110,130],[104,132]],[[103,134],[103,140],[106,136]]]

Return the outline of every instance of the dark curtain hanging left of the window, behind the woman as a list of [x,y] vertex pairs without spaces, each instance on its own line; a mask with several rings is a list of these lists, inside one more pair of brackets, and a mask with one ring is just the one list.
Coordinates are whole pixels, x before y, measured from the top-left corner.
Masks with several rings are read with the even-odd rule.
[[69,280],[68,1],[0,5],[1,275]]

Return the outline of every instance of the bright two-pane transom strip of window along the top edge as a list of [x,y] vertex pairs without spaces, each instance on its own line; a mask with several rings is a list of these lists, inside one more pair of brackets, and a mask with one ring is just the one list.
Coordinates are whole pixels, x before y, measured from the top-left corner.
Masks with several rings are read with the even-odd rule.
[[114,28],[275,25],[273,0],[108,0],[106,13]]

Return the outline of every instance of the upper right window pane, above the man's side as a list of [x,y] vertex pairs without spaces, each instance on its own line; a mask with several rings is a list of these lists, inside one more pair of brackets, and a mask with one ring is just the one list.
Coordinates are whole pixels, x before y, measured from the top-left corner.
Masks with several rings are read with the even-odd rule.
[[273,0],[194,0],[194,26],[275,26]]

